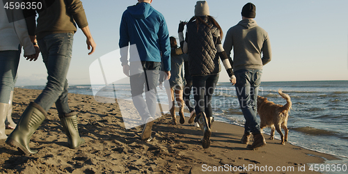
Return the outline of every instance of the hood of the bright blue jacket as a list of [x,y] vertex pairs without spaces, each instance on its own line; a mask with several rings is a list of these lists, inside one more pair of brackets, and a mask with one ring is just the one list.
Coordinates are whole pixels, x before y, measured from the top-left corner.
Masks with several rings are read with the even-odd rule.
[[146,19],[152,14],[154,8],[152,8],[150,3],[142,2],[136,3],[135,6],[129,6],[127,10],[132,15],[132,17],[136,19]]

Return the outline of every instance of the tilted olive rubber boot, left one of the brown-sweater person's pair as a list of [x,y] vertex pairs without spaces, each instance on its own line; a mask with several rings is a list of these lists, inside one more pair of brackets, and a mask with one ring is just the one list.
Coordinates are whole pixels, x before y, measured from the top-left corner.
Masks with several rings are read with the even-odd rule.
[[25,111],[22,113],[17,127],[8,136],[6,143],[17,148],[26,155],[35,154],[38,150],[29,148],[31,135],[42,124],[46,118],[46,111],[35,102],[31,102]]

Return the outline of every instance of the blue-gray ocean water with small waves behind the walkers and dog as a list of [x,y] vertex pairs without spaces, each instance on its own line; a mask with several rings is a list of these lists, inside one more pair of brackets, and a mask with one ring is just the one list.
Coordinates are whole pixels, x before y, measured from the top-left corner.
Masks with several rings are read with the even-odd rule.
[[[19,86],[42,89],[44,86]],[[70,86],[70,93],[93,95],[103,86]],[[348,81],[277,81],[262,82],[259,95],[276,104],[285,104],[278,89],[290,95],[292,110],[288,119],[289,143],[340,157],[332,164],[348,164]],[[168,104],[165,90],[157,88],[159,101]],[[98,95],[131,100],[129,84],[106,86]],[[193,98],[192,98],[193,100]],[[219,83],[212,101],[215,120],[244,125],[235,86]],[[270,133],[269,128],[264,133]],[[275,138],[280,139],[278,132]],[[275,140],[278,141],[278,140]],[[330,163],[329,163],[330,164]],[[347,173],[346,171],[345,173]]]

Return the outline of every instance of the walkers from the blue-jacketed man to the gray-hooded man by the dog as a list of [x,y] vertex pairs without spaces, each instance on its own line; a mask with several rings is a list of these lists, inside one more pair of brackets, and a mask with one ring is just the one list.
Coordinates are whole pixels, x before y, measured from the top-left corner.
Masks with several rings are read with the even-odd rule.
[[[203,131],[201,139],[203,148],[209,148],[214,120],[212,95],[219,80],[220,61],[222,61],[230,82],[239,91],[237,97],[246,119],[241,142],[248,144],[253,134],[254,141],[246,148],[253,150],[265,145],[260,126],[256,122],[256,99],[262,67],[271,61],[271,45],[267,32],[255,22],[255,5],[246,3],[242,8],[242,21],[228,30],[222,45],[223,31],[214,17],[209,15],[207,1],[197,1],[195,15],[189,22],[179,24],[180,47],[178,47],[176,39],[168,35],[163,15],[152,8],[151,3],[152,0],[139,0],[135,6],[129,6],[122,15],[120,25],[120,48],[136,45],[140,56],[140,60],[135,60],[136,56],[132,56],[131,53],[128,60],[128,49],[121,49],[120,60],[123,71],[126,75],[130,75],[132,100],[144,120],[141,139],[144,141],[152,139],[151,129],[155,117],[153,104],[156,101],[157,79],[161,69],[166,76],[160,77],[159,83],[160,86],[164,83],[168,90],[173,124],[177,124],[174,108],[176,100],[180,123],[185,122],[184,104],[186,104],[190,111],[189,123],[193,120],[198,122]],[[186,36],[183,33],[184,26],[187,26]],[[233,59],[230,57],[232,48]],[[171,58],[168,58],[170,56]],[[164,79],[168,79],[169,83],[166,84]],[[146,101],[142,96],[144,87]],[[191,89],[194,109],[189,100]]]

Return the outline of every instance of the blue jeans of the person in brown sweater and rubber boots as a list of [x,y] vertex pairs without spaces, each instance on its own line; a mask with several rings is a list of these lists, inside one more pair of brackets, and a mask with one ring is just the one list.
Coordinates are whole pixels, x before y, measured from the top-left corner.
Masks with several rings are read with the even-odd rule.
[[72,57],[73,33],[46,35],[38,40],[43,62],[47,69],[47,84],[35,103],[45,111],[56,103],[58,114],[70,113],[68,105],[68,80],[66,76]]

